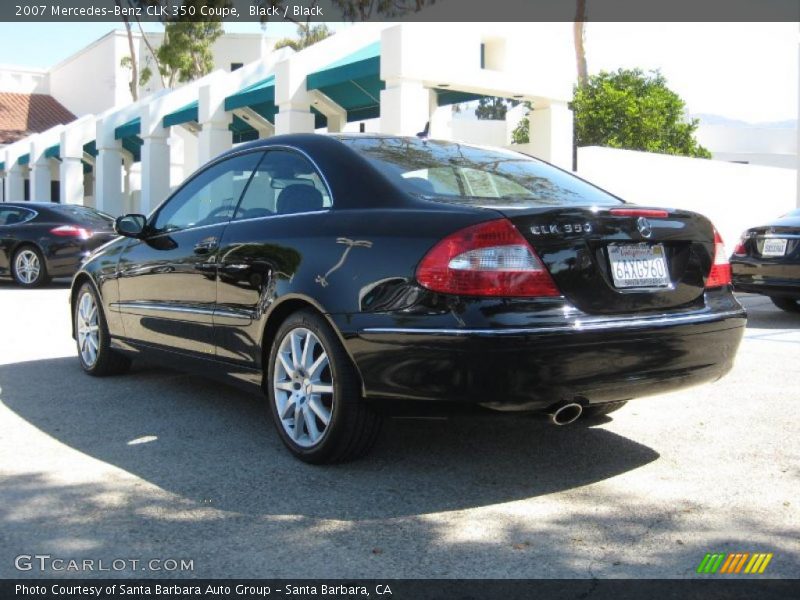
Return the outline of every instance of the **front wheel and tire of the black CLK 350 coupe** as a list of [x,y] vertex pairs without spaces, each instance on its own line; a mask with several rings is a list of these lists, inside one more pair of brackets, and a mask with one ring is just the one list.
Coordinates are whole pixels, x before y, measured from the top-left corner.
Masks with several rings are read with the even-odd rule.
[[103,306],[90,283],[84,283],[75,297],[72,314],[78,361],[95,377],[120,375],[131,366],[131,359],[111,348]]

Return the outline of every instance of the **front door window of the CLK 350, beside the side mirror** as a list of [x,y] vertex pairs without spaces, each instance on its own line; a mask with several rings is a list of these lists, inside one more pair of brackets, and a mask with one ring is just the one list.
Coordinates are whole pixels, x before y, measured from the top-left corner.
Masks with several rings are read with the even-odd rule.
[[230,221],[262,156],[262,152],[250,152],[209,167],[170,198],[152,227],[167,232]]

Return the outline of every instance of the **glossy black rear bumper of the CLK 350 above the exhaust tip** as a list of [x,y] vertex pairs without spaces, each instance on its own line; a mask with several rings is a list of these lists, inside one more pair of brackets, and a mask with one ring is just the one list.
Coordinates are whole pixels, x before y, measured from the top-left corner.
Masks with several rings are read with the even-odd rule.
[[714,381],[731,369],[745,324],[737,305],[515,329],[365,328],[346,345],[370,399],[543,410]]

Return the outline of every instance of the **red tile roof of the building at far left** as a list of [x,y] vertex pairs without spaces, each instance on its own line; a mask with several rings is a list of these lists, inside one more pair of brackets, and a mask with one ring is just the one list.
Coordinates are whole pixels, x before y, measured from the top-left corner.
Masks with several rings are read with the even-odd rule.
[[75,120],[75,115],[47,94],[0,92],[0,144]]

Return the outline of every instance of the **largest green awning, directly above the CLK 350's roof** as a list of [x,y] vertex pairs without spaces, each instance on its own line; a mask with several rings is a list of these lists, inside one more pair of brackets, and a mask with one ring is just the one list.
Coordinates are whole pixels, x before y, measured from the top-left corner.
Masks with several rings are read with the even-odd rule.
[[306,88],[319,90],[347,111],[348,121],[380,116],[381,43],[375,42],[310,73]]

